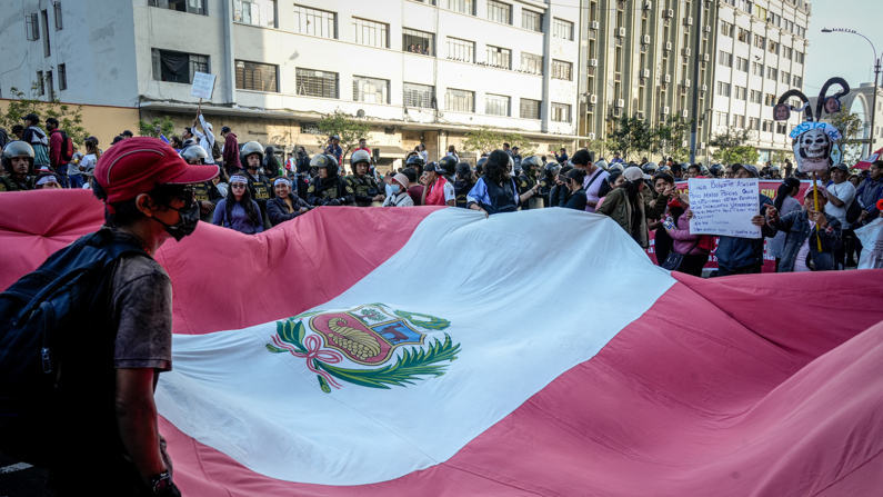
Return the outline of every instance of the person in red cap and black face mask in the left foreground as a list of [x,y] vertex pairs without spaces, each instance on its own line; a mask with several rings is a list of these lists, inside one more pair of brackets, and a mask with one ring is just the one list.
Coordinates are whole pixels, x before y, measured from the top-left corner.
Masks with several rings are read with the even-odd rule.
[[80,495],[91,479],[86,475],[96,471],[101,476],[88,484],[90,494],[180,495],[153,400],[159,374],[172,366],[172,284],[153,256],[167,239],[193,232],[200,212],[192,186],[218,172],[218,166],[188,165],[155,138],[123,140],[98,161],[102,230],[143,251],[106,269],[88,310],[104,314],[104,327],[84,329],[78,337],[84,344],[64,350],[61,449],[48,481],[59,495]]

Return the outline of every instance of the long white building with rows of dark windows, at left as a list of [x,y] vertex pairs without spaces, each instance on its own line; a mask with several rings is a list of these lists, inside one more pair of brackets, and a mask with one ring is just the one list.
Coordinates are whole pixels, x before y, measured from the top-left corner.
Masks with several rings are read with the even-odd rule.
[[114,133],[158,116],[182,128],[198,103],[193,74],[209,72],[217,81],[202,111],[240,141],[314,152],[317,121],[340,110],[371,125],[385,163],[420,142],[443,156],[480,127],[519,132],[542,151],[575,139],[579,6],[24,0],[12,7],[21,29],[0,33],[0,98],[42,77],[89,116],[120,109]]

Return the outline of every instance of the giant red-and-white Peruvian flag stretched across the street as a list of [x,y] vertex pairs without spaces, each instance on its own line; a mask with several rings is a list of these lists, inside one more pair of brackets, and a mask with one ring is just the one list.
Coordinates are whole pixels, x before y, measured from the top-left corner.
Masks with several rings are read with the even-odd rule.
[[[0,195],[0,288],[102,222]],[[569,209],[320,208],[157,255],[188,496],[870,496],[883,271],[702,280]]]

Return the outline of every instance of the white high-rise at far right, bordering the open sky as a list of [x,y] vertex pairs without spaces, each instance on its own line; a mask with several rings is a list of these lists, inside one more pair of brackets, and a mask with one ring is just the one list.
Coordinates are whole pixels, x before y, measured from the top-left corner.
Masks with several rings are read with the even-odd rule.
[[[719,0],[713,87],[713,135],[728,128],[753,131],[759,162],[790,153],[787,133],[800,123],[773,120],[773,106],[790,89],[806,93],[809,0]],[[812,97],[807,95],[807,97]],[[802,106],[797,100],[792,102]]]

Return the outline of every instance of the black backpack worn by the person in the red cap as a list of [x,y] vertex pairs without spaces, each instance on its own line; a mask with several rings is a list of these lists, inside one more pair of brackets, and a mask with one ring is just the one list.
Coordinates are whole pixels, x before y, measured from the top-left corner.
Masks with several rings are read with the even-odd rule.
[[58,380],[63,338],[106,322],[116,261],[144,250],[110,229],[81,237],[0,294],[0,453],[49,466],[58,440]]

